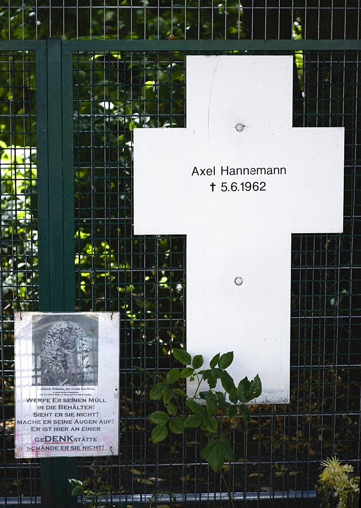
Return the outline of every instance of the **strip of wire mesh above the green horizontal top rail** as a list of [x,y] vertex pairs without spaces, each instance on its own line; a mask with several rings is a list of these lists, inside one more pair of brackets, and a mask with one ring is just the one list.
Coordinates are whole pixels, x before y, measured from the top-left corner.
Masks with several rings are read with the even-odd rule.
[[9,0],[5,39],[358,39],[358,0]]

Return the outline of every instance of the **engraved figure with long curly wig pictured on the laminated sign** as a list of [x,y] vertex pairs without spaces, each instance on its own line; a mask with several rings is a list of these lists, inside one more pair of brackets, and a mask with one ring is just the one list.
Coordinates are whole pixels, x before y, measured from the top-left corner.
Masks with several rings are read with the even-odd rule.
[[89,371],[89,346],[83,328],[58,321],[48,330],[40,352],[42,386],[77,386]]

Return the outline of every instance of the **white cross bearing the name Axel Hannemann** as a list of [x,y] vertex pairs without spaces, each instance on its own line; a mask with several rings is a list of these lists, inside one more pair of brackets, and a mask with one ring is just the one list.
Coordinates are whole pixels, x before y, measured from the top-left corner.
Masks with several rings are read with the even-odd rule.
[[288,402],[291,234],[342,232],[344,130],[292,128],[292,56],[186,68],[186,129],[134,132],[134,232],[187,235],[187,351]]

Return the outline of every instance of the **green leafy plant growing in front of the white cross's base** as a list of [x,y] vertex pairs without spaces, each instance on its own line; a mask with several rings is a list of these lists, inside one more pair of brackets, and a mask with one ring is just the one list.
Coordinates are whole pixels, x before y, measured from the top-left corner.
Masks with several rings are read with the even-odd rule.
[[[192,358],[187,351],[178,348],[173,348],[172,354],[183,368],[171,368],[152,374],[146,369],[137,369],[147,375],[148,384],[152,382],[150,399],[159,400],[165,406],[164,411],[154,411],[149,415],[155,424],[151,439],[157,443],[164,440],[169,431],[183,434],[189,428],[198,429],[206,438],[201,458],[208,462],[213,471],[219,471],[225,462],[235,460],[231,441],[223,430],[223,421],[232,421],[237,415],[249,421],[247,404],[259,397],[262,391],[259,376],[257,374],[252,380],[246,376],[236,386],[233,377],[227,372],[233,362],[232,351],[215,355],[206,369],[202,369],[202,355]],[[191,397],[186,392],[187,379],[195,386]],[[225,393],[216,389],[219,382]],[[205,390],[207,385],[208,390]],[[227,486],[222,471],[221,475]],[[233,506],[228,486],[227,491]]]

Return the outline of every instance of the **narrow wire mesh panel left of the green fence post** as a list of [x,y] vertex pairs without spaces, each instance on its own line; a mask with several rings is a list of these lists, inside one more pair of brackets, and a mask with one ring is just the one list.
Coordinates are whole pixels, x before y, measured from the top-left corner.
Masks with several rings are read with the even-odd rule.
[[14,312],[38,310],[35,53],[0,53],[0,492],[34,496],[39,462],[14,458]]

